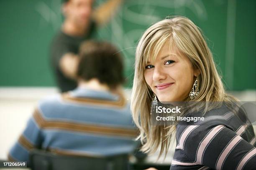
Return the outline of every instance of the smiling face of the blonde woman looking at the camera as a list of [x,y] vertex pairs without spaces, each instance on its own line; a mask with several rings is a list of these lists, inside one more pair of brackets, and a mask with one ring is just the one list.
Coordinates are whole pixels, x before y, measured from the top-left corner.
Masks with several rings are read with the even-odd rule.
[[146,83],[161,102],[184,101],[195,81],[194,71],[188,57],[176,47],[170,50],[164,45],[155,60],[149,60],[144,71]]

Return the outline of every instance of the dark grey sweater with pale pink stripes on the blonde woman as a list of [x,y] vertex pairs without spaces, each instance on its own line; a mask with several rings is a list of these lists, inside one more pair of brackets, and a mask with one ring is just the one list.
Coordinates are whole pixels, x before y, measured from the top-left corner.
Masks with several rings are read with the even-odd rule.
[[256,170],[251,123],[242,125],[225,105],[206,112],[204,117],[204,121],[177,125],[177,146],[170,169]]

